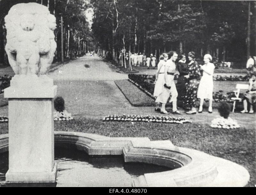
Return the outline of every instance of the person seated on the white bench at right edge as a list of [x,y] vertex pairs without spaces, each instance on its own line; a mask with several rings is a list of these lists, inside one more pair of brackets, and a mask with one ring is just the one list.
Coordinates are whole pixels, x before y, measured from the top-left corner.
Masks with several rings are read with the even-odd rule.
[[244,110],[241,113],[248,113],[247,111],[247,102],[250,104],[250,112],[253,113],[252,104],[256,100],[256,76],[253,74],[249,79],[249,91],[244,94],[243,103],[244,103]]

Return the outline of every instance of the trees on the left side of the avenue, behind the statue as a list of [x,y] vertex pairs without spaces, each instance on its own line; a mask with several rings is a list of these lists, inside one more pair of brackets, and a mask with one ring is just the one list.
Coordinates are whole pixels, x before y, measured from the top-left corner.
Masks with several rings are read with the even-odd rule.
[[88,48],[93,48],[93,36],[86,20],[85,10],[89,7],[85,0],[0,0],[0,64],[8,64],[4,51],[6,30],[4,17],[10,8],[18,3],[35,2],[48,6],[56,17],[55,41],[57,43],[55,61],[61,59],[61,16],[63,19],[63,53],[64,58],[83,55]]

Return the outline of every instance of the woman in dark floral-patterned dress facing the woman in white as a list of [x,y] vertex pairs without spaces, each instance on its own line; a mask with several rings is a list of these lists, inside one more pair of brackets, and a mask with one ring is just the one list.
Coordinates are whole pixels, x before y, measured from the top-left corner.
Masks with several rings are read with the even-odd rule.
[[184,97],[184,106],[190,108],[186,114],[196,114],[197,89],[201,78],[200,67],[195,61],[195,52],[188,53],[188,82],[186,83],[187,92]]

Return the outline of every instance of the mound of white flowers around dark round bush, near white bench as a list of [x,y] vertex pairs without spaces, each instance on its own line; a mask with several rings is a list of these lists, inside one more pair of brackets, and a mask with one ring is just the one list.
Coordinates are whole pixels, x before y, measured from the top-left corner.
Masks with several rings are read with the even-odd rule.
[[210,125],[212,128],[218,129],[237,129],[240,128],[237,121],[228,117],[227,119],[220,117],[213,119]]

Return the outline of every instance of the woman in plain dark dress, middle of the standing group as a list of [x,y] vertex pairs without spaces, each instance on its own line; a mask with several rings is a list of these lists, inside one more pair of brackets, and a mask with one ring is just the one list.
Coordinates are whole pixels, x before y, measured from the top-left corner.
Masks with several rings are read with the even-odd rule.
[[180,60],[177,64],[177,69],[180,73],[179,78],[177,79],[176,89],[178,91],[177,99],[182,101],[184,105],[184,97],[186,95],[186,82],[188,79],[188,65],[186,64],[185,53],[180,55]]

